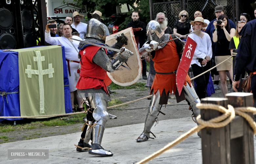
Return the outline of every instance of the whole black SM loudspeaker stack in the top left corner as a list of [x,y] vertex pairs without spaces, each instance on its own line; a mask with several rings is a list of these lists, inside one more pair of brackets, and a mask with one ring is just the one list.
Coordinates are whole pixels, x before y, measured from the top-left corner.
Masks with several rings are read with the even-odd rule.
[[0,49],[36,46],[32,0],[0,1]]

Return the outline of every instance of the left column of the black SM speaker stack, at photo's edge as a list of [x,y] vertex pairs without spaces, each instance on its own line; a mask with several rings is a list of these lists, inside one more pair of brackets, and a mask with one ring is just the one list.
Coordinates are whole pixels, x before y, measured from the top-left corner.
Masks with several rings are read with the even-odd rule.
[[0,2],[0,49],[16,49],[18,44],[14,0]]

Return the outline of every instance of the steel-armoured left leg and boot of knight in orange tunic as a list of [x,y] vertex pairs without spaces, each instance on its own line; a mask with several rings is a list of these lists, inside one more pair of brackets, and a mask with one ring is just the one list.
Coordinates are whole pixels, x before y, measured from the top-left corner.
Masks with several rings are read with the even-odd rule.
[[160,92],[158,90],[156,94],[152,96],[151,104],[148,108],[148,114],[145,120],[144,130],[140,134],[140,136],[137,138],[137,142],[144,142],[144,141],[147,141],[149,138],[152,138],[150,137],[150,133],[152,133],[150,130],[154,125],[154,123],[156,122],[157,115],[160,111],[161,105],[159,105],[159,101],[160,101]]

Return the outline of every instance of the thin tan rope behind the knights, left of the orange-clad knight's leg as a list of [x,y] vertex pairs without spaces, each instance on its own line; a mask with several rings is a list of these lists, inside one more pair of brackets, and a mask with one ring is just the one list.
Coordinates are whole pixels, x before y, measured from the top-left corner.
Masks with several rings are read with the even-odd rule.
[[[126,103],[123,103],[123,104],[118,104],[118,105],[114,105],[114,106],[111,106],[111,107],[107,107],[107,109],[109,109],[109,108],[119,107],[119,106],[126,105],[126,104],[129,104],[129,103],[133,103],[133,102],[136,102],[136,101],[139,101],[139,100],[143,100],[143,99],[148,98],[148,97],[151,97],[151,96],[152,96],[152,95],[149,95],[149,96],[146,96],[146,97],[143,97],[143,98],[140,98],[140,99],[134,100],[134,101],[130,101],[130,102],[126,102]],[[85,112],[65,113],[65,114],[53,114],[53,115],[38,115],[38,116],[1,116],[0,118],[39,118],[39,117],[57,117],[57,116],[66,116],[66,115],[81,114],[81,113],[85,113]]]

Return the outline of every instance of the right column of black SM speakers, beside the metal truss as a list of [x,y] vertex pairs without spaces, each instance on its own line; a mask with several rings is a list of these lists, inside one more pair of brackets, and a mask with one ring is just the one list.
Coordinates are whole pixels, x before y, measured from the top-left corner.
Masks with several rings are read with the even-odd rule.
[[35,31],[32,0],[18,0],[18,1],[20,1],[20,18],[22,23],[21,29],[23,32],[24,48],[34,47],[36,46],[36,31]]

